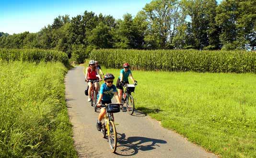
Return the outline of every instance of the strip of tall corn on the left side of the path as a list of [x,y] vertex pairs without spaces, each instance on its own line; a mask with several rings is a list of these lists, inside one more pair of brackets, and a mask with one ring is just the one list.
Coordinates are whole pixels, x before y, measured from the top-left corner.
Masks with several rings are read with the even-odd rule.
[[44,49],[0,49],[0,59],[7,61],[59,61],[65,65],[69,64],[67,54],[57,50]]

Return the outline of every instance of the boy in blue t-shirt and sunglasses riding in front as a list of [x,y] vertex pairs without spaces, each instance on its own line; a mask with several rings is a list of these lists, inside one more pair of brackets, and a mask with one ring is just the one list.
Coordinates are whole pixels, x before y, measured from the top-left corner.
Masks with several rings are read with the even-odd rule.
[[[105,74],[105,76],[104,76],[105,83],[101,85],[99,99],[96,103],[97,107],[99,107],[101,104],[111,103],[111,99],[113,98],[114,95],[116,97],[117,103],[120,104],[116,86],[113,84],[114,79],[115,79],[115,77],[113,74]],[[101,104],[100,104],[100,102],[101,102]],[[98,120],[96,122],[96,128],[98,131],[101,130],[101,120],[104,118],[105,113],[106,113],[106,109],[101,108],[101,112],[100,112],[100,114],[98,116]]]

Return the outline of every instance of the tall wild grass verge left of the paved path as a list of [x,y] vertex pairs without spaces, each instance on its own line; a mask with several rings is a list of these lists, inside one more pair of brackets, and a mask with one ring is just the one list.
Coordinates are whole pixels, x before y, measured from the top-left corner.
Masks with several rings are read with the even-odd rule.
[[76,157],[61,63],[0,61],[0,157]]

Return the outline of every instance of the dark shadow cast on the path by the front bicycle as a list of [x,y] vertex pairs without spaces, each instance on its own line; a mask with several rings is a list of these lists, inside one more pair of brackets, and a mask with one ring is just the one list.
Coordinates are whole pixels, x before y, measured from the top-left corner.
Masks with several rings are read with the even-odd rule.
[[116,155],[133,156],[139,151],[153,150],[160,147],[158,144],[166,144],[165,140],[152,139],[141,136],[131,136],[126,138],[125,134],[117,134]]

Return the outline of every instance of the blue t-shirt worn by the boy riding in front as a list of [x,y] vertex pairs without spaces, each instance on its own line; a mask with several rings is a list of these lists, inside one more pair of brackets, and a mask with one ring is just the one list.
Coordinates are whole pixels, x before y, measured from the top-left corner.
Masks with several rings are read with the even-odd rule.
[[103,101],[111,101],[115,92],[117,92],[115,85],[112,85],[111,87],[107,87],[106,83],[101,85],[100,94],[103,94]]

